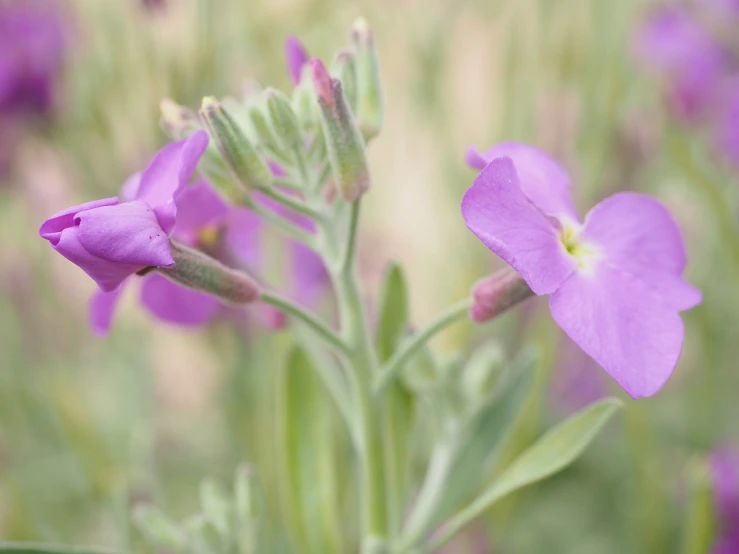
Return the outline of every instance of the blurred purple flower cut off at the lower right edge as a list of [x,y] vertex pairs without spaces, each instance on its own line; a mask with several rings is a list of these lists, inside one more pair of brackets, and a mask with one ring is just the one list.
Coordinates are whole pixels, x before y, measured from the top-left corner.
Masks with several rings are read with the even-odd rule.
[[710,457],[720,533],[713,554],[739,554],[739,450],[722,447]]

